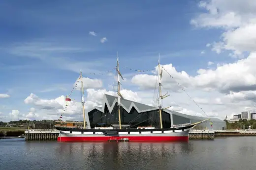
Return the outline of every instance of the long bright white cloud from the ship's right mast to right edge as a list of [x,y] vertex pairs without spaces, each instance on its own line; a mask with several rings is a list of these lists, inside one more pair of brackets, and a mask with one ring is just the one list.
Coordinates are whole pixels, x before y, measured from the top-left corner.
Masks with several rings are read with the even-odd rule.
[[[216,69],[199,69],[195,76],[190,76],[185,71],[177,72],[172,64],[163,65],[164,69],[174,78],[170,78],[163,71],[162,84],[163,88],[171,91],[180,89],[177,82],[185,88],[217,90],[221,93],[256,90],[255,64],[256,53],[251,53],[246,59],[224,64]],[[132,77],[131,82],[143,89],[153,89],[156,80],[156,75],[137,74]]]

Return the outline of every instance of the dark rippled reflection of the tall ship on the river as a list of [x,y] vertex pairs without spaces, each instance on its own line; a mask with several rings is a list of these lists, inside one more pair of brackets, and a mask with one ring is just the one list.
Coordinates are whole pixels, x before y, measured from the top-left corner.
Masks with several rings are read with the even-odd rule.
[[[145,161],[154,161],[160,165],[167,161],[171,165],[179,154],[193,151],[191,143],[61,143],[56,155],[65,155],[71,161],[82,161],[88,166],[104,169],[105,165],[119,169],[120,167],[145,167]],[[79,158],[75,157],[78,156]],[[144,163],[143,163],[144,162]],[[97,165],[95,165],[97,163]],[[143,165],[143,167],[141,167]],[[151,165],[152,166],[152,165]],[[149,167],[150,168],[150,167]],[[157,167],[156,167],[157,168]]]

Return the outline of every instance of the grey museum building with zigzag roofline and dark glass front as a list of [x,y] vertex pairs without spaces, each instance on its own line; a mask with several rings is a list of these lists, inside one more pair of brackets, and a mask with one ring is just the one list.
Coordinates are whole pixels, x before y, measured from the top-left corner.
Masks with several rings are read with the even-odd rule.
[[[102,107],[94,107],[89,110],[89,120],[91,128],[95,126],[119,127],[117,97],[104,94]],[[121,99],[122,107],[120,108],[122,127],[137,128],[138,126],[160,127],[160,114],[158,107],[152,107],[138,102]],[[172,110],[163,110],[162,113],[163,128],[172,125],[195,123],[207,118],[182,114]],[[210,123],[211,121],[211,123]],[[194,129],[213,129],[223,130],[226,128],[226,122],[217,118],[211,118],[198,124]]]

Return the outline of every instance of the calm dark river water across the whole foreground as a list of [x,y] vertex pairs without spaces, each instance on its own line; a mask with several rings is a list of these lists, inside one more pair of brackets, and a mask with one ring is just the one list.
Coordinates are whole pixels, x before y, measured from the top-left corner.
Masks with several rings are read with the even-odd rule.
[[183,143],[0,140],[0,170],[255,170],[256,137]]

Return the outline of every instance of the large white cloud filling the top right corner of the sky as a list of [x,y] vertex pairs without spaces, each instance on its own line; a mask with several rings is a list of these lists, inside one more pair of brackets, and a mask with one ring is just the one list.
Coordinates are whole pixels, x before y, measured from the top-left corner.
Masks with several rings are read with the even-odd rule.
[[203,0],[198,5],[206,9],[192,19],[198,27],[223,28],[222,41],[214,43],[217,53],[231,50],[232,57],[244,57],[244,51],[256,51],[256,1],[255,0]]

